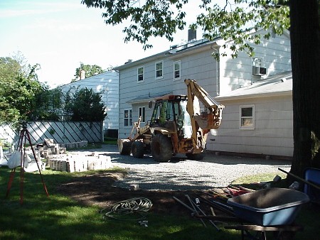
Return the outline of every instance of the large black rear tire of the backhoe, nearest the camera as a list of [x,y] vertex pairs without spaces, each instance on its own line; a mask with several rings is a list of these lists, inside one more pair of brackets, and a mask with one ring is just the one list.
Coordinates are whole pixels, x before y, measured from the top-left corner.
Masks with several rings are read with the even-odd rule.
[[152,157],[157,162],[168,162],[174,153],[170,138],[163,134],[157,134],[154,136],[151,143],[151,153]]

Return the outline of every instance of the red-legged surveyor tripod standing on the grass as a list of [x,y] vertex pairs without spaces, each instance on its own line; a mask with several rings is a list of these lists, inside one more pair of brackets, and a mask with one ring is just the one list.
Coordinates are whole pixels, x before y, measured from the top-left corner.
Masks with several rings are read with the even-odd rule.
[[[27,159],[26,159],[26,143],[27,143],[27,141],[28,141],[29,146],[31,147],[33,157],[36,160],[36,164],[38,166],[38,171],[40,173],[41,181],[43,183],[43,188],[46,192],[46,195],[49,197],[48,190],[47,190],[46,184],[43,181],[43,176],[41,174],[41,169],[39,167],[39,163],[38,163],[39,159],[37,158],[36,152],[34,151],[34,148],[31,143],[30,133],[27,129],[27,122],[22,121],[21,125],[22,125],[22,129],[20,131],[18,146],[16,148],[16,151],[20,152],[20,204],[23,203],[23,181],[24,181],[24,172],[25,172],[24,166],[27,161]],[[12,168],[12,170],[11,170],[11,174],[10,174],[10,178],[9,178],[9,182],[8,182],[8,187],[6,189],[6,197],[9,196],[9,192],[11,190],[11,185],[14,180],[14,173],[16,173],[16,167]]]

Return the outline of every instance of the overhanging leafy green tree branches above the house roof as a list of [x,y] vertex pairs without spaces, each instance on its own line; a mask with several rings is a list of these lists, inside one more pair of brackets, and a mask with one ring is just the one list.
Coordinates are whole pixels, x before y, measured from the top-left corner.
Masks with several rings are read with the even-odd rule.
[[[260,43],[261,38],[270,38],[270,31],[281,35],[289,28],[288,0],[225,0],[220,6],[215,0],[198,0],[202,13],[196,18],[191,28],[201,28],[203,38],[213,40],[218,36],[224,40],[233,40],[235,45],[233,58],[238,52],[245,50],[253,55],[249,43]],[[194,2],[194,1],[193,1]],[[137,40],[143,48],[151,48],[148,43],[151,36],[165,37],[174,40],[176,31],[186,27],[186,11],[183,6],[188,0],[82,0],[87,7],[103,9],[102,17],[105,23],[117,25],[129,19],[130,24],[123,29],[126,34],[124,41]],[[264,36],[250,34],[252,30],[265,29],[269,31]],[[226,45],[223,46],[227,48]],[[225,52],[220,53],[225,55]],[[215,58],[218,58],[215,55]]]

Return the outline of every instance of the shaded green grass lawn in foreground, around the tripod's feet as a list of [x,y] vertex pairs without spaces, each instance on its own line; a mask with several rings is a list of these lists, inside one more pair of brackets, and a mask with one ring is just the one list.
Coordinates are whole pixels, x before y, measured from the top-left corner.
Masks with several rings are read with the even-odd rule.
[[[25,173],[21,205],[19,168],[6,198],[10,172],[9,168],[0,168],[0,239],[241,239],[240,231],[225,230],[223,226],[220,226],[221,231],[217,231],[209,223],[203,227],[197,219],[184,215],[149,214],[146,218],[148,227],[142,227],[137,221],[103,219],[99,207],[83,206],[55,192],[57,185],[87,172],[43,171],[49,197],[43,189],[40,175]],[[252,179],[260,181],[260,178]],[[299,232],[295,239],[316,239],[320,236],[319,213],[319,208],[303,207],[297,224],[302,224],[304,231]]]

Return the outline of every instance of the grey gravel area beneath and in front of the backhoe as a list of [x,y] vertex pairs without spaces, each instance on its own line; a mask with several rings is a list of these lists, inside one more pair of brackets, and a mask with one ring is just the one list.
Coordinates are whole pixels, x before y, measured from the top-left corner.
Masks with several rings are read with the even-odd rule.
[[114,145],[104,145],[95,151],[110,156],[113,166],[128,170],[127,178],[116,182],[117,186],[129,188],[131,184],[138,184],[143,190],[208,190],[227,187],[233,180],[245,175],[277,175],[281,173],[278,168],[289,171],[291,166],[289,160],[215,156],[212,153],[207,153],[203,160],[187,160],[181,155],[169,163],[157,163],[151,156],[142,159],[121,156]]

